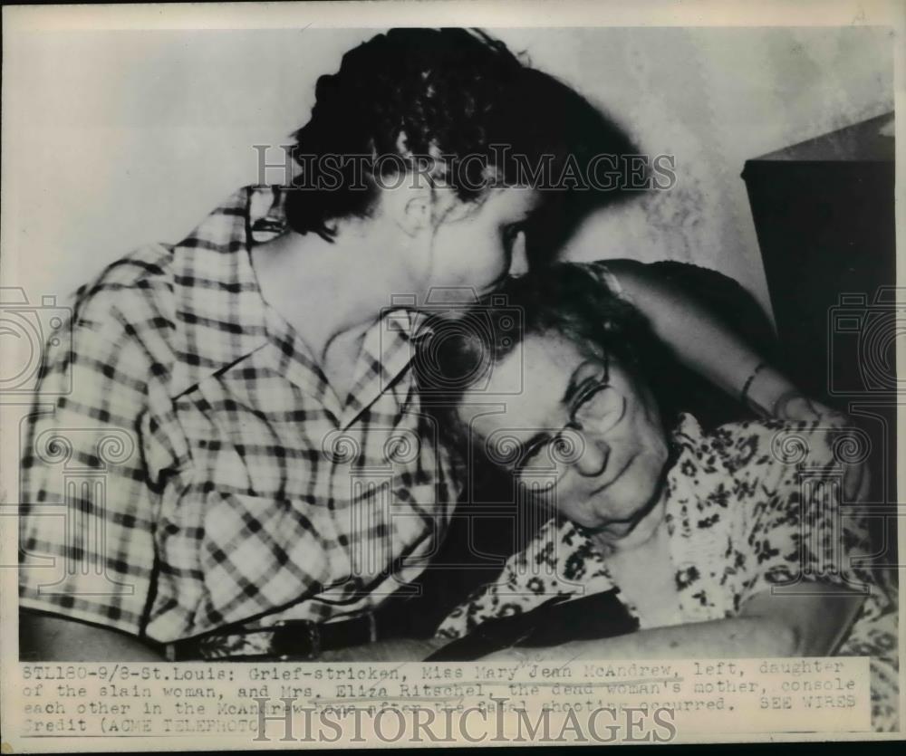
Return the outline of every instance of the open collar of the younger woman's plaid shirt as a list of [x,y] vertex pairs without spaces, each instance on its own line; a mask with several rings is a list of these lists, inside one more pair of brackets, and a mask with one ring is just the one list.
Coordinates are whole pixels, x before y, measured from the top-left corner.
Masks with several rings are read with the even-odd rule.
[[[284,233],[289,229],[283,188],[244,187],[174,246],[180,326],[175,347],[181,359],[172,376],[172,397],[261,349],[273,336],[269,323],[274,314],[258,288],[248,252]],[[342,426],[392,388],[409,367],[413,342],[429,333],[424,321],[424,315],[388,303],[365,335],[349,396],[337,397],[345,398],[344,406],[329,407],[342,418]]]

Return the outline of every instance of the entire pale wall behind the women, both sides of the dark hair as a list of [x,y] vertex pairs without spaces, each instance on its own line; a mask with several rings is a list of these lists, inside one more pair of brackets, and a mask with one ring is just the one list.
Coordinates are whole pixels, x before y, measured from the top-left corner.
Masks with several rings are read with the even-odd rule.
[[[4,285],[62,295],[130,248],[177,241],[255,182],[253,144],[307,119],[313,84],[375,30],[19,35],[5,49]],[[602,213],[568,254],[678,259],[766,301],[747,158],[892,110],[881,29],[497,32],[676,155],[668,193]],[[27,72],[23,76],[10,73]]]

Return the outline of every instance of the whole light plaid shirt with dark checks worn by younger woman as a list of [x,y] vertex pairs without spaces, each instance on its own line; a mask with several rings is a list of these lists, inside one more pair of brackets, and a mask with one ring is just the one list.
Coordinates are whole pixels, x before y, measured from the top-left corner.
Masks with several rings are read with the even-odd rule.
[[284,228],[280,190],[246,187],[76,292],[24,428],[24,608],[167,642],[361,614],[424,568],[458,492],[415,324],[382,317],[336,396],[255,281]]

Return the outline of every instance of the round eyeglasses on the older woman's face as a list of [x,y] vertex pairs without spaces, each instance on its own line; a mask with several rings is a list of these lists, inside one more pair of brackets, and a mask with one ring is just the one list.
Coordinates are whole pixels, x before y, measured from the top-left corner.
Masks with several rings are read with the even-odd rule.
[[[600,437],[615,427],[626,407],[626,398],[610,384],[608,366],[601,374],[583,381],[570,402],[570,419],[562,428],[524,445],[512,435],[497,434],[487,439],[492,461],[516,477],[555,474],[557,480],[577,463],[585,451],[587,434]],[[494,436],[497,435],[495,438]]]

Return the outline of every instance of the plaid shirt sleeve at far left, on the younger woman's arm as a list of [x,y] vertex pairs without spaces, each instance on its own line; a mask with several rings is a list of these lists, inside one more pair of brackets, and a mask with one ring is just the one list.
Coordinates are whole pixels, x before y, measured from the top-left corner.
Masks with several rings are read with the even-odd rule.
[[156,496],[140,421],[161,366],[96,288],[48,342],[21,434],[20,606],[141,635]]

